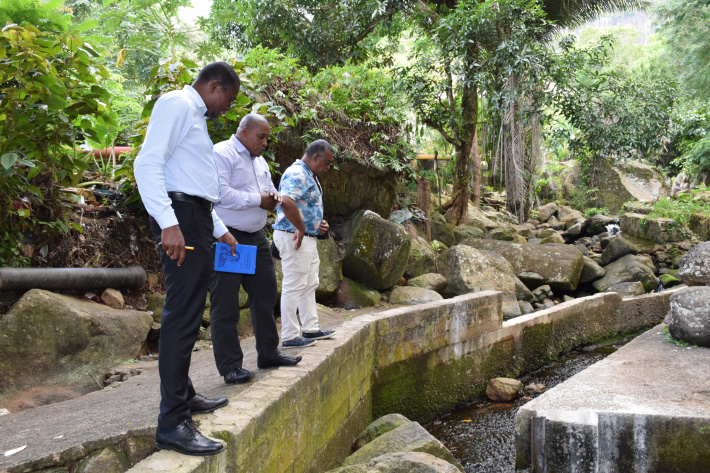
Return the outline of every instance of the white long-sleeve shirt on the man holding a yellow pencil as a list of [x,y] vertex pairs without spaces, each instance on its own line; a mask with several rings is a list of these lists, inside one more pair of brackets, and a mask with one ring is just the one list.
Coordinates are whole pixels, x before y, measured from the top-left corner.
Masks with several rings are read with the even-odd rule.
[[[178,224],[168,192],[219,200],[206,112],[204,100],[189,85],[163,95],[153,107],[134,173],[143,204],[162,229]],[[214,210],[212,222],[215,238],[227,233]]]

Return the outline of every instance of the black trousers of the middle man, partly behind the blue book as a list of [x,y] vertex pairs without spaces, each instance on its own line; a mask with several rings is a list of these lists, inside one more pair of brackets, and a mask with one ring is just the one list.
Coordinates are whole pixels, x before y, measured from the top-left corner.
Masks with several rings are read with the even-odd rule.
[[210,284],[210,329],[212,351],[217,370],[222,376],[242,368],[244,354],[239,344],[239,286],[249,295],[249,309],[256,337],[256,352],[260,359],[278,355],[279,334],[274,320],[276,305],[276,273],[269,242],[263,230],[247,233],[228,228],[240,245],[256,246],[254,274],[213,271]]

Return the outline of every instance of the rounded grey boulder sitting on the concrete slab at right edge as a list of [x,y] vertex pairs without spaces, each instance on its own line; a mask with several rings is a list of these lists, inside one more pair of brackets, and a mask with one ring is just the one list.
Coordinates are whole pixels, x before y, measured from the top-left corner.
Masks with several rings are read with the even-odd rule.
[[710,287],[681,289],[670,297],[668,329],[678,340],[710,348]]

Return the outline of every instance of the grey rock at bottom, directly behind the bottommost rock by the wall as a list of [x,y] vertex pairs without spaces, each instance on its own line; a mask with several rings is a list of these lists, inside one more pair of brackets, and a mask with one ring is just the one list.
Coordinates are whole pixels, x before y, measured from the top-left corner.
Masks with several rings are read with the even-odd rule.
[[451,452],[416,422],[408,422],[375,438],[346,458],[343,466],[366,464],[381,455],[395,452],[428,453],[464,471]]

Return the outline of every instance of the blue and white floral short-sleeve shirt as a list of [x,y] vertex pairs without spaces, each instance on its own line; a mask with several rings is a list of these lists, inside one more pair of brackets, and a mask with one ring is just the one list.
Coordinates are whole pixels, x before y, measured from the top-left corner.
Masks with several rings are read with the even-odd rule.
[[[306,226],[306,233],[318,235],[318,228],[323,220],[323,189],[306,163],[297,159],[286,169],[281,176],[279,194],[290,197],[296,203]],[[273,228],[287,232],[296,231],[296,227],[288,221],[281,207],[276,211],[276,223]]]

